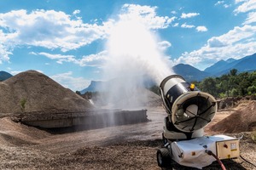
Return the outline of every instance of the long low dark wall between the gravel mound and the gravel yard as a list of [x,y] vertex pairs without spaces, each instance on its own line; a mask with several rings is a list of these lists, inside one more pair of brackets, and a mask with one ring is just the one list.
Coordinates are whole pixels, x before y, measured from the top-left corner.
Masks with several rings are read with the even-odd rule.
[[140,111],[92,111],[51,114],[26,114],[21,122],[44,128],[84,126],[88,128],[147,122],[147,110]]

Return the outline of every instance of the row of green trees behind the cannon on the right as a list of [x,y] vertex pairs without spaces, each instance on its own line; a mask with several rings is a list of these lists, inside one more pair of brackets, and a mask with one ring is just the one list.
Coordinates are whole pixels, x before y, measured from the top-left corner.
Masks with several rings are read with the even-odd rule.
[[207,77],[201,82],[193,83],[202,92],[218,98],[256,95],[256,71],[238,74],[233,69],[221,77]]

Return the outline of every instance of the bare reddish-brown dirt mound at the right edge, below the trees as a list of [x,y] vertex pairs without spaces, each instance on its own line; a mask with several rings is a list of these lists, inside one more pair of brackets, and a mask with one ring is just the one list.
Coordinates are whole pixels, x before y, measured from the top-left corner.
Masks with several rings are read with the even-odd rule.
[[255,130],[256,101],[243,100],[234,113],[212,126],[212,131],[221,133],[240,133]]

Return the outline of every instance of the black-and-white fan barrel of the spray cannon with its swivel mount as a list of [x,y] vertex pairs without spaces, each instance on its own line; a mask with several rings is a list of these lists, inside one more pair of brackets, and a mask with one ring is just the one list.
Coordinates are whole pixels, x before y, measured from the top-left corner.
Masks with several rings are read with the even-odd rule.
[[211,94],[199,91],[183,77],[172,75],[160,83],[160,94],[168,116],[164,136],[167,139],[191,139],[203,135],[203,128],[217,111]]

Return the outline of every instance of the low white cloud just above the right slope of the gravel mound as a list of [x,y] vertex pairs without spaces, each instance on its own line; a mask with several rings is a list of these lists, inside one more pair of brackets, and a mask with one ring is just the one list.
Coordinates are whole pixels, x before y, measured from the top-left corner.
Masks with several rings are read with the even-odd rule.
[[60,83],[65,88],[70,88],[73,90],[73,92],[77,90],[82,90],[89,86],[90,81],[87,79],[84,79],[83,77],[73,77],[73,72],[68,71],[61,74],[56,74],[54,76],[51,76],[55,82]]

